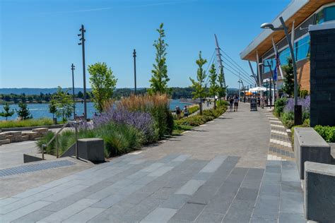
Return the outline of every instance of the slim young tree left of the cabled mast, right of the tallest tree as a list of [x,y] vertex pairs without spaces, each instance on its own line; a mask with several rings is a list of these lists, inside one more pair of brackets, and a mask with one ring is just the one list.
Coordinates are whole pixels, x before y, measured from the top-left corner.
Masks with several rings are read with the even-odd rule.
[[206,59],[201,57],[201,52],[199,52],[199,59],[196,60],[196,64],[199,66],[198,71],[196,71],[196,80],[189,78],[192,82],[192,88],[194,91],[192,92],[193,98],[200,99],[200,114],[202,114],[202,99],[206,97],[206,86],[205,86],[205,78],[206,71],[204,71],[204,64],[207,63]]

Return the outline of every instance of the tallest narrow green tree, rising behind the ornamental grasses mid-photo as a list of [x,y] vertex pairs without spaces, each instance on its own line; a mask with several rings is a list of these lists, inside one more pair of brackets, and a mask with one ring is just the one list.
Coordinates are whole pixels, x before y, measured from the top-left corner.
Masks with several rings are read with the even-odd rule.
[[163,29],[163,23],[160,23],[159,29],[157,29],[159,33],[158,40],[155,40],[153,46],[156,49],[156,57],[155,57],[155,64],[153,64],[153,70],[151,73],[151,88],[148,89],[150,94],[165,94],[168,93],[167,89],[167,82],[170,78],[167,76],[167,66],[166,66],[166,47],[168,46],[165,43],[165,31]]

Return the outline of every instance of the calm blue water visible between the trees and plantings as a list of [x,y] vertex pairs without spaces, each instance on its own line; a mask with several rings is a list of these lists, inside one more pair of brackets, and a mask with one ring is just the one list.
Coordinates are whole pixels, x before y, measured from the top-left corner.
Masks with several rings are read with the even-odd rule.
[[[180,102],[179,100],[171,100],[170,102],[170,110],[175,110],[176,106],[180,108],[184,107],[184,105],[188,105],[187,103]],[[0,111],[3,111],[4,105],[0,104]],[[18,104],[10,104],[11,109],[18,109]],[[49,113],[49,104],[28,104],[28,108],[30,113],[33,114],[34,119],[39,119],[42,117],[52,118],[52,114]],[[88,118],[92,117],[95,112],[95,108],[93,106],[93,102],[87,103],[87,114]],[[83,114],[83,103],[76,103],[76,114]],[[15,113],[13,116],[8,117],[8,120],[17,119],[18,115]],[[0,116],[0,120],[6,120],[4,117]]]

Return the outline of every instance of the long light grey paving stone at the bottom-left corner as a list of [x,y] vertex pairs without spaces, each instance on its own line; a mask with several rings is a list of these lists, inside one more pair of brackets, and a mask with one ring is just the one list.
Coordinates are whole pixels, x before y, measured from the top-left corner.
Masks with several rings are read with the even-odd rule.
[[35,203],[30,203],[29,205],[26,205],[24,207],[20,207],[16,210],[13,210],[10,213],[7,213],[5,215],[0,216],[0,222],[11,222],[13,220],[16,220],[20,217],[23,217],[25,215],[30,214],[31,212],[35,212],[35,210],[39,210],[42,207],[45,207],[46,205],[49,205],[50,203],[47,201],[36,201]]

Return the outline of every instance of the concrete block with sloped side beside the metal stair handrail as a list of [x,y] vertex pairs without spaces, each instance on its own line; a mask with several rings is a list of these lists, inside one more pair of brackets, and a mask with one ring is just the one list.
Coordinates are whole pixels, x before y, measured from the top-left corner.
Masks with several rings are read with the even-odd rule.
[[[82,138],[78,140],[78,156],[92,162],[105,161],[104,140],[101,138]],[[66,150],[61,157],[76,155],[76,143]]]

